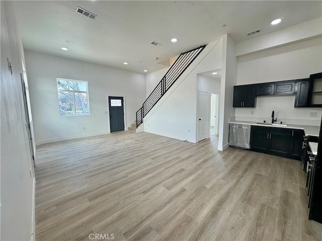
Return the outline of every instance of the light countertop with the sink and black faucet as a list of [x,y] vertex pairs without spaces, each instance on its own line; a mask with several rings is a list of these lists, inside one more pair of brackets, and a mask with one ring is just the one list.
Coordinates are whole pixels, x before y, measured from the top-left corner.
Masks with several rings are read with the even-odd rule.
[[[285,126],[275,126],[275,125],[267,125],[267,124],[258,124],[257,122],[246,122],[246,121],[230,121],[229,124],[241,124],[241,125],[251,125],[251,126],[261,126],[261,127],[276,127],[276,128],[289,128],[289,129],[299,129],[304,130],[305,136],[314,136],[318,137],[320,127],[318,126],[304,126],[304,125],[287,125]],[[277,123],[279,124],[279,123]]]

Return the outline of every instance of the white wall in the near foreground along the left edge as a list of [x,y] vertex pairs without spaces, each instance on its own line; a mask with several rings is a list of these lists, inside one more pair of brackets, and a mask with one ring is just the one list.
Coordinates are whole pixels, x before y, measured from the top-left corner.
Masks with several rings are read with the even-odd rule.
[[[23,47],[14,6],[1,1],[1,240],[35,239],[34,176],[20,73]],[[7,58],[13,75],[9,73]]]

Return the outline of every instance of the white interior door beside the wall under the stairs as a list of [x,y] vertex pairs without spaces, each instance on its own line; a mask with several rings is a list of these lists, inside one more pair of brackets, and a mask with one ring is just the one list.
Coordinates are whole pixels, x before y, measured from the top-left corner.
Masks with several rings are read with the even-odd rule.
[[198,96],[198,142],[207,138],[207,100],[208,93],[199,91]]

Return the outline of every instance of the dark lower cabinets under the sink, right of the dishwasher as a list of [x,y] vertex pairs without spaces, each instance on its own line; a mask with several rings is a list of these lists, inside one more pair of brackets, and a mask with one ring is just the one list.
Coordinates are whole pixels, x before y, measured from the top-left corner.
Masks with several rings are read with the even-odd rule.
[[303,130],[252,126],[251,150],[300,160]]

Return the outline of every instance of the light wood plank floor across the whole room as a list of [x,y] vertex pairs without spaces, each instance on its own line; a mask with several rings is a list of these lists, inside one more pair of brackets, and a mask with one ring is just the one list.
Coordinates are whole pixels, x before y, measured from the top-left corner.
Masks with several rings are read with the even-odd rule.
[[38,147],[38,240],[322,240],[299,161],[216,146],[127,131]]

